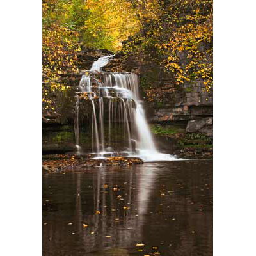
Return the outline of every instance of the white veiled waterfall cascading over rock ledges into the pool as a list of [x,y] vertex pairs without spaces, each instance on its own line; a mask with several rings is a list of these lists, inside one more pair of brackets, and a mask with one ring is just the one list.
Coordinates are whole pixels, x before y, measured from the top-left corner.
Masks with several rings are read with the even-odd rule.
[[[104,157],[105,154],[108,156],[109,154],[111,156],[126,154],[138,156],[143,161],[175,160],[175,156],[162,154],[155,147],[139,98],[138,76],[131,72],[100,72],[111,58],[113,55],[104,56],[95,61],[88,75],[83,75],[79,83],[80,92],[92,102],[93,148],[96,148],[98,156],[99,154],[100,157]],[[96,111],[96,103],[99,111]],[[108,104],[107,108],[104,108],[104,104]],[[107,125],[104,120],[104,109],[108,109]],[[75,113],[74,127],[78,145],[79,97],[77,97]],[[104,140],[104,129],[107,127],[108,132],[105,133],[108,134],[108,140]],[[124,141],[120,141],[121,137]],[[123,143],[124,148],[121,150],[118,148],[116,151],[118,142]],[[105,148],[107,152],[104,151]]]

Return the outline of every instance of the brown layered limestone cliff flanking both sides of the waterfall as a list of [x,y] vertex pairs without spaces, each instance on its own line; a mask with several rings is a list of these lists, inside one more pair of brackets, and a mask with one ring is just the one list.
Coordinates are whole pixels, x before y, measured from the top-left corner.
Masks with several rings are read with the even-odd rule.
[[[43,113],[43,151],[45,154],[74,151],[74,95],[83,70],[89,70],[93,61],[111,54],[107,50],[83,49],[78,52],[79,72],[65,74],[62,81],[70,86],[58,92],[56,113]],[[212,92],[204,91],[203,81],[193,81],[184,86],[175,85],[171,74],[150,61],[134,56],[116,54],[104,71],[131,71],[140,77],[140,95],[145,102],[148,121],[159,124],[179,124],[186,132],[200,132],[212,136]],[[91,145],[89,129],[81,124],[81,140]],[[166,144],[166,143],[164,143]],[[170,143],[168,143],[170,144]],[[171,143],[175,144],[175,143]],[[170,144],[170,145],[171,145]]]

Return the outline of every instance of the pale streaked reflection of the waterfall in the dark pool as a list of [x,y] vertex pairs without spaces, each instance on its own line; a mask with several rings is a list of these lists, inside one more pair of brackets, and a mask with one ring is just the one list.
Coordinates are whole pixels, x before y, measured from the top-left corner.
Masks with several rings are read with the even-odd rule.
[[[115,170],[100,168],[93,173],[93,212],[84,215],[81,201],[83,173],[76,174],[76,230],[83,240],[84,252],[111,248],[129,248],[143,241],[143,225],[151,191],[154,188],[156,168],[129,167],[122,182],[113,183]],[[142,170],[141,170],[142,168]],[[125,170],[123,170],[125,172]],[[123,184],[123,185],[122,185]],[[83,224],[88,227],[83,228]]]

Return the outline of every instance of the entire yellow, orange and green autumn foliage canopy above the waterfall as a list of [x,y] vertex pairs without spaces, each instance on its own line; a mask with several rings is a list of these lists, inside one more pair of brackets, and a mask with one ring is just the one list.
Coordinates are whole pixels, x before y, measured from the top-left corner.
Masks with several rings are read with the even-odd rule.
[[43,109],[54,111],[52,95],[77,72],[81,47],[140,54],[176,84],[204,81],[212,87],[212,0],[44,0]]

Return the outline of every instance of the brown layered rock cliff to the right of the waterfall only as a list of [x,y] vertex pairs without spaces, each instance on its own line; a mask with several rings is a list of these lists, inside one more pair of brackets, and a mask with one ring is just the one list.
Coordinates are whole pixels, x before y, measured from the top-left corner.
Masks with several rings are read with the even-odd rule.
[[[147,104],[150,122],[183,122],[186,125],[191,120],[213,116],[213,94],[206,92],[202,80],[191,81],[182,86],[175,85],[172,74],[164,72],[163,68],[152,61],[141,61],[134,56],[117,55],[105,70],[132,71],[140,76],[140,91]],[[207,129],[202,128],[193,132],[212,136],[212,124],[207,124]],[[188,129],[187,132],[191,130]]]

